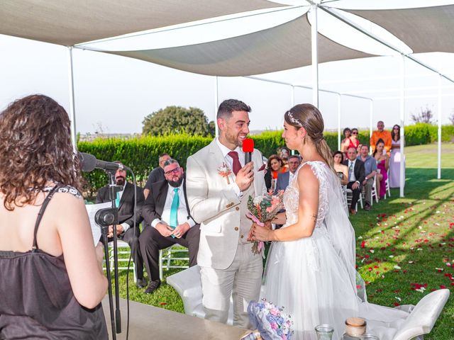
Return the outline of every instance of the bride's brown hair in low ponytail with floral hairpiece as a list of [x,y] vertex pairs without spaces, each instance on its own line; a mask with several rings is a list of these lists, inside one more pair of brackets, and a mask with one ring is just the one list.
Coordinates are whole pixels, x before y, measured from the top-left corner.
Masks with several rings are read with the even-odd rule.
[[306,138],[309,137],[317,152],[334,171],[334,159],[323,137],[325,125],[319,109],[311,104],[298,104],[285,113],[284,119],[289,125],[306,130]]

